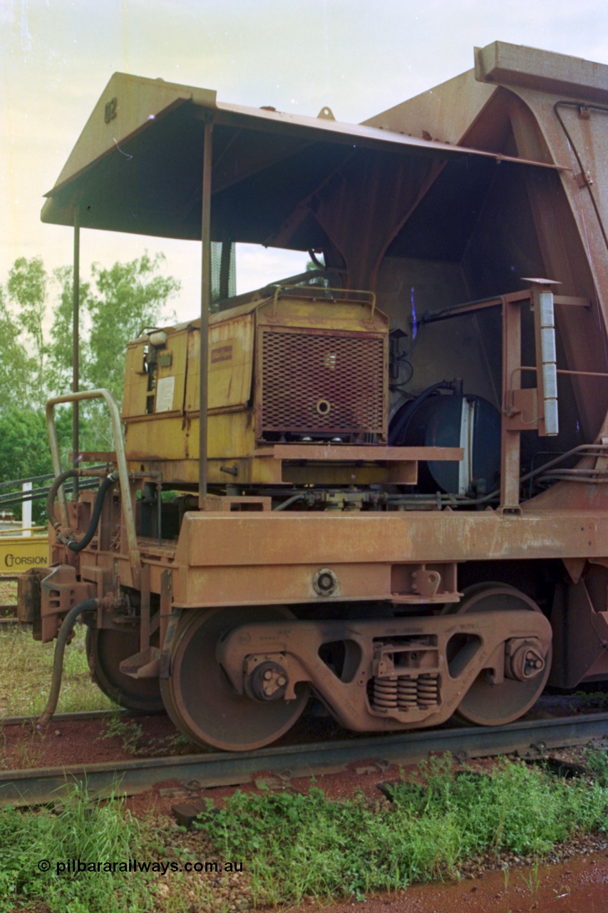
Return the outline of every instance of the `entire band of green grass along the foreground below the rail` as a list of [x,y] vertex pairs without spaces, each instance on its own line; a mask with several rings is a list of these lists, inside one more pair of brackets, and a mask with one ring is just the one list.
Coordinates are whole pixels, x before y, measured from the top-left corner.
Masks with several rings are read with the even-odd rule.
[[[603,774],[605,752],[593,752]],[[0,810],[0,913],[222,913],[230,904],[217,881],[120,870],[58,871],[68,859],[128,862],[136,858],[242,863],[257,906],[303,897],[363,897],[413,881],[457,876],[475,855],[498,851],[541,859],[573,834],[604,831],[608,788],[592,777],[565,781],[523,763],[500,762],[488,775],[454,775],[449,759],[431,761],[397,784],[393,803],[362,794],[331,802],[314,787],[291,792],[236,792],[199,819],[207,834],[194,847],[180,834],[139,824],[117,799],[94,802],[72,788],[58,813]],[[211,844],[208,843],[208,837]],[[198,855],[193,855],[198,854]],[[210,856],[211,854],[211,856]],[[48,872],[37,864],[47,859]],[[507,877],[506,883],[507,883]],[[532,869],[530,890],[538,882]]]

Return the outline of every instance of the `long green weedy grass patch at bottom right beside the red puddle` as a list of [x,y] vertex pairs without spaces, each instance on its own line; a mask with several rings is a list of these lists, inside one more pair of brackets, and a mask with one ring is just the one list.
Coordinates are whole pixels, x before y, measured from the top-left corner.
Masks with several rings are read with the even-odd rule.
[[454,776],[451,761],[423,767],[423,784],[403,782],[393,803],[362,795],[328,801],[309,795],[237,792],[200,826],[229,859],[246,859],[257,903],[302,897],[362,897],[413,881],[457,876],[475,855],[542,856],[575,833],[602,831],[608,789],[561,780],[523,763],[501,762],[490,776]]

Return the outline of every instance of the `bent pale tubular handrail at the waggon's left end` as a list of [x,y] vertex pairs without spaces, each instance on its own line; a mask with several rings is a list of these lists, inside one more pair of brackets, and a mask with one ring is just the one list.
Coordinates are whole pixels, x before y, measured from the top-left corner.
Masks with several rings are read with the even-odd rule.
[[[127,468],[127,457],[122,440],[121,414],[118,403],[110,390],[82,390],[79,393],[64,394],[63,396],[54,396],[47,402],[47,430],[50,442],[51,457],[53,460],[53,470],[55,477],[61,475],[61,456],[59,455],[59,442],[57,428],[55,426],[55,406],[62,403],[76,403],[80,400],[103,399],[110,411],[110,421],[112,427],[112,437],[114,439],[114,449],[116,451],[116,465],[118,468],[119,481],[122,491],[122,509],[124,510],[124,522],[127,531],[127,545],[129,549],[129,559],[131,561],[131,570],[138,575],[141,569],[140,551],[137,545],[137,535],[135,532],[135,518],[133,515],[133,506],[131,504],[131,494],[129,491],[129,470]],[[63,490],[59,488],[59,509],[61,511],[61,522],[68,527],[68,501]]]

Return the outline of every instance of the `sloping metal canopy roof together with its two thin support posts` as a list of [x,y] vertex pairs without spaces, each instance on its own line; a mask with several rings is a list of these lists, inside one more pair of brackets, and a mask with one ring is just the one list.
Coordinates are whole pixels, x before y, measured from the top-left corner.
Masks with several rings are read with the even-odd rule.
[[[42,210],[44,222],[75,228],[75,389],[79,228],[202,238],[199,508],[204,509],[210,239],[320,248],[326,265],[344,270],[347,288],[375,289],[389,248],[396,256],[416,250],[423,257],[462,257],[463,239],[492,180],[489,171],[496,172],[494,162],[504,173],[520,168],[522,160],[337,123],[327,109],[318,118],[247,109],[219,103],[208,89],[114,74]],[[453,223],[447,215],[454,216]],[[77,410],[73,448],[79,449]]]

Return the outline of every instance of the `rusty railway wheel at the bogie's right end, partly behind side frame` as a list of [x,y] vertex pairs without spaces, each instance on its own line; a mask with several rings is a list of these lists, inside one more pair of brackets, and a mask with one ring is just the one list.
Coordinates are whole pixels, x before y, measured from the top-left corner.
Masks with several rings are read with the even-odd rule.
[[[513,610],[540,612],[539,606],[515,587],[505,583],[477,583],[465,590],[459,603],[448,606],[446,613]],[[505,677],[499,685],[494,685],[482,669],[458,705],[455,716],[477,726],[502,726],[519,719],[540,698],[550,666],[551,647],[544,657],[544,667],[525,681]]]

